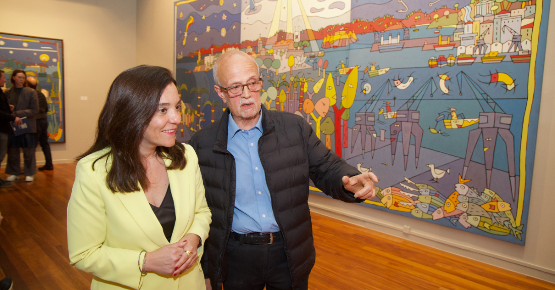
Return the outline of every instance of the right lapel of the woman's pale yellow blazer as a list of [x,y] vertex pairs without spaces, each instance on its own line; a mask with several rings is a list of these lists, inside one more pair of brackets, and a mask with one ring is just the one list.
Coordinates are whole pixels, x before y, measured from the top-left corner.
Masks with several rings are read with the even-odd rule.
[[[166,166],[169,166],[171,160],[165,159]],[[178,242],[184,235],[189,224],[190,215],[190,191],[189,176],[184,170],[168,170],[168,179],[170,181],[171,197],[174,200],[175,207],[175,226],[171,233],[171,243]],[[194,204],[194,203],[193,203]]]

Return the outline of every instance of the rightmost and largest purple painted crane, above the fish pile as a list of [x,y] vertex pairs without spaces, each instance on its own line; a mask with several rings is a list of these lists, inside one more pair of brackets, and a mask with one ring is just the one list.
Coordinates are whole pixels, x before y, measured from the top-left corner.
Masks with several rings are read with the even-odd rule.
[[511,183],[511,194],[513,200],[516,191],[516,177],[514,167],[514,136],[509,130],[513,115],[506,114],[501,107],[488,95],[478,84],[464,72],[457,74],[459,95],[462,95],[462,80],[465,79],[472,93],[476,96],[482,107],[482,113],[478,121],[478,128],[468,133],[466,146],[465,165],[462,170],[462,178],[465,179],[470,159],[475,151],[480,135],[482,136],[484,161],[486,165],[486,188],[490,188],[491,174],[493,170],[493,157],[497,142],[497,135],[501,136],[507,146],[507,165],[509,170],[509,182]]

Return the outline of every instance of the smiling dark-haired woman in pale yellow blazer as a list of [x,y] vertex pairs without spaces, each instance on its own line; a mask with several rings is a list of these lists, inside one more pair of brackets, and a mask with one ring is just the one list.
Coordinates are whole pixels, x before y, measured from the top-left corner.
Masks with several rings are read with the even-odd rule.
[[160,67],[118,75],[94,145],[78,157],[69,259],[94,275],[91,289],[205,289],[211,213],[195,151],[175,142],[175,84]]

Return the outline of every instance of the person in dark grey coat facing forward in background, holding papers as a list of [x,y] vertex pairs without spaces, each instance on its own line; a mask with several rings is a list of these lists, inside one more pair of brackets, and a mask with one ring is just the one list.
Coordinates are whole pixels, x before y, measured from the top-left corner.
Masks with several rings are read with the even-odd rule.
[[25,87],[27,77],[21,69],[13,71],[10,82],[13,87],[6,91],[8,102],[13,106],[13,114],[19,118],[26,117],[31,128],[30,133],[19,136],[8,136],[8,162],[6,165],[7,181],[19,179],[21,167],[19,167],[19,148],[23,149],[25,181],[34,180],[33,175],[37,173],[37,161],[35,158],[35,134],[37,123],[35,115],[38,113],[37,91]]

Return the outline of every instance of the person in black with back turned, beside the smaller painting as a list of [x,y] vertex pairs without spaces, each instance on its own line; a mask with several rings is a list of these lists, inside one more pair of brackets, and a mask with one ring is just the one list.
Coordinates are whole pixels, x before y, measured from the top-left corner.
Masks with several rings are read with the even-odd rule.
[[[34,77],[27,77],[27,86],[33,90],[37,90],[37,79]],[[41,91],[37,90],[38,98],[38,114],[37,118],[37,145],[41,144],[42,152],[44,154],[44,166],[39,167],[38,170],[54,170],[52,164],[52,152],[50,151],[50,144],[48,144],[48,103],[46,96]]]

